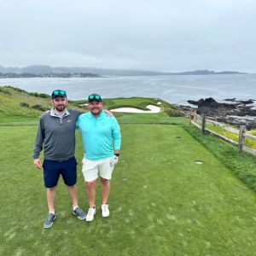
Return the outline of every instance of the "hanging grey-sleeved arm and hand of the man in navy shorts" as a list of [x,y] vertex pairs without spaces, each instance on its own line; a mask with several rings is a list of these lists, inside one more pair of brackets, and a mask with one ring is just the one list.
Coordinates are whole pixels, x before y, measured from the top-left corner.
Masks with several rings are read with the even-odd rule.
[[41,117],[38,124],[38,134],[35,139],[35,148],[34,148],[34,166],[36,168],[42,168],[41,160],[39,159],[39,154],[42,151],[44,143],[44,124],[43,124],[43,118]]

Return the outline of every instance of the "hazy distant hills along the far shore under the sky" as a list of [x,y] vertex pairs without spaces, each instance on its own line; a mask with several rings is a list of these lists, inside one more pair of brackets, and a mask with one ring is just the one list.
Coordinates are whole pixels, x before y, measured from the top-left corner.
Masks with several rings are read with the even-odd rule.
[[[0,78],[6,77],[99,77],[99,76],[155,76],[155,75],[207,75],[207,74],[244,74],[240,72],[224,71],[214,72],[195,70],[177,73],[166,73],[145,70],[108,69],[97,67],[50,67],[45,65],[32,65],[28,67],[0,66]],[[5,76],[8,74],[8,76]],[[19,74],[19,76],[17,75]]]

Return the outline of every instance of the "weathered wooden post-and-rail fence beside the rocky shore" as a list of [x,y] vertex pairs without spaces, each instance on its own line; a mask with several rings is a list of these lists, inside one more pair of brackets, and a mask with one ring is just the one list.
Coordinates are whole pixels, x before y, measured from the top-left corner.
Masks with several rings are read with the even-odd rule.
[[[198,121],[200,121],[201,124],[199,124]],[[245,125],[241,125],[240,129],[237,130],[237,129],[232,128],[228,125],[224,125],[224,124],[218,123],[217,121],[207,119],[204,113],[202,114],[202,116],[200,116],[199,114],[197,114],[195,112],[192,112],[192,111],[189,113],[189,125],[190,124],[195,125],[197,128],[201,129],[202,134],[205,134],[205,131],[208,131],[208,132],[212,133],[213,135],[224,139],[224,141],[237,146],[239,151],[245,151],[249,154],[256,155],[256,150],[255,149],[248,148],[245,145],[245,138],[251,139],[254,142],[256,142],[256,136],[253,136],[251,134],[246,133],[246,126]],[[225,131],[230,131],[232,133],[235,133],[236,135],[238,135],[238,142],[236,142],[236,141],[234,141],[234,140],[232,140],[228,137],[224,137],[224,135],[220,135],[216,131],[212,131],[211,129],[206,127],[206,124],[218,126],[218,127],[222,128]]]

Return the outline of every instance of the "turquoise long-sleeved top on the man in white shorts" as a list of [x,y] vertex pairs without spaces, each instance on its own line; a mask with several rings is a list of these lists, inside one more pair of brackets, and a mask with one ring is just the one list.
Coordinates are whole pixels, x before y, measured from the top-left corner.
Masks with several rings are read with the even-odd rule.
[[113,156],[113,150],[121,146],[121,134],[117,119],[102,111],[97,117],[82,113],[76,123],[83,138],[84,158],[103,160]]

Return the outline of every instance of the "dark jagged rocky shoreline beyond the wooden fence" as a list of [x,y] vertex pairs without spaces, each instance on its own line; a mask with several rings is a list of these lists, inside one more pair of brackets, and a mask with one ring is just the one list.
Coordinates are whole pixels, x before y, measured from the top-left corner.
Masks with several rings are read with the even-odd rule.
[[256,109],[253,109],[253,102],[238,101],[236,98],[225,99],[224,102],[216,102],[212,97],[200,99],[199,101],[189,100],[188,103],[197,108],[190,106],[179,106],[183,112],[188,113],[190,109],[195,109],[196,113],[205,113],[208,119],[214,119],[230,125],[246,125],[247,130],[256,129]]

